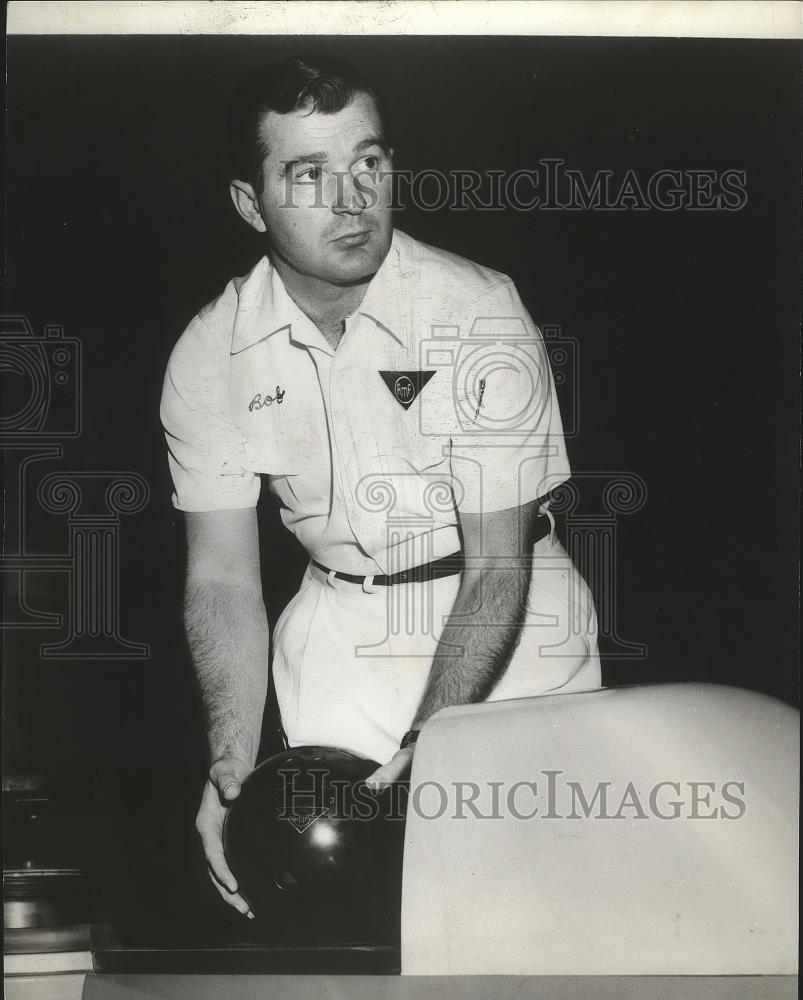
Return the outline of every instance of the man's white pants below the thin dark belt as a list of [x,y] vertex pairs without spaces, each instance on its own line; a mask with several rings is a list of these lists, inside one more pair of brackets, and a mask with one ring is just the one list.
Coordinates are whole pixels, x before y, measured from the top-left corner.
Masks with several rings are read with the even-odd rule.
[[[274,634],[273,677],[290,746],[384,763],[421,701],[459,575],[377,587],[310,566]],[[591,593],[554,532],[536,542],[519,644],[489,701],[601,684]]]

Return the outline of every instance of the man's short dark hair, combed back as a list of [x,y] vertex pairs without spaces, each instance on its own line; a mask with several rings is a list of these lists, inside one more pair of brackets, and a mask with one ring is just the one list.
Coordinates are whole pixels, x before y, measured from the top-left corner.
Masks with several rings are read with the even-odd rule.
[[261,124],[269,111],[286,115],[309,108],[329,115],[342,111],[355,94],[373,98],[387,141],[387,115],[381,94],[361,73],[339,59],[293,56],[264,66],[247,76],[232,95],[228,137],[230,167],[238,180],[262,187],[262,162],[267,156]]

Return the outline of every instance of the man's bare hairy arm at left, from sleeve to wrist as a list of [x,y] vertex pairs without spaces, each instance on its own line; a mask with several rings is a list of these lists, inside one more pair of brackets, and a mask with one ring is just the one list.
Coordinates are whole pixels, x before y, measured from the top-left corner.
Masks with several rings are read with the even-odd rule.
[[213,761],[253,766],[268,684],[268,622],[253,509],[186,515],[184,621]]

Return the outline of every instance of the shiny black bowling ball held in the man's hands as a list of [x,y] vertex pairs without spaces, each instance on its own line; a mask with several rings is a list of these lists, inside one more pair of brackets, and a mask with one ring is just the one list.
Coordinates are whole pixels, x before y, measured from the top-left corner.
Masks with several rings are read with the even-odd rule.
[[404,786],[377,795],[379,765],[332,747],[270,757],[243,782],[223,845],[258,918],[306,943],[398,934]]

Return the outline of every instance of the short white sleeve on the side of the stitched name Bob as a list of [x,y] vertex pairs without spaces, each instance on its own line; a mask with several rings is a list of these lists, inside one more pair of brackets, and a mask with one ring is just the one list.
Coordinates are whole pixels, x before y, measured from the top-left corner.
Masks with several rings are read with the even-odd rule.
[[228,360],[226,338],[200,317],[170,356],[160,415],[178,510],[234,510],[259,499],[259,476],[244,467],[245,442],[231,419]]

